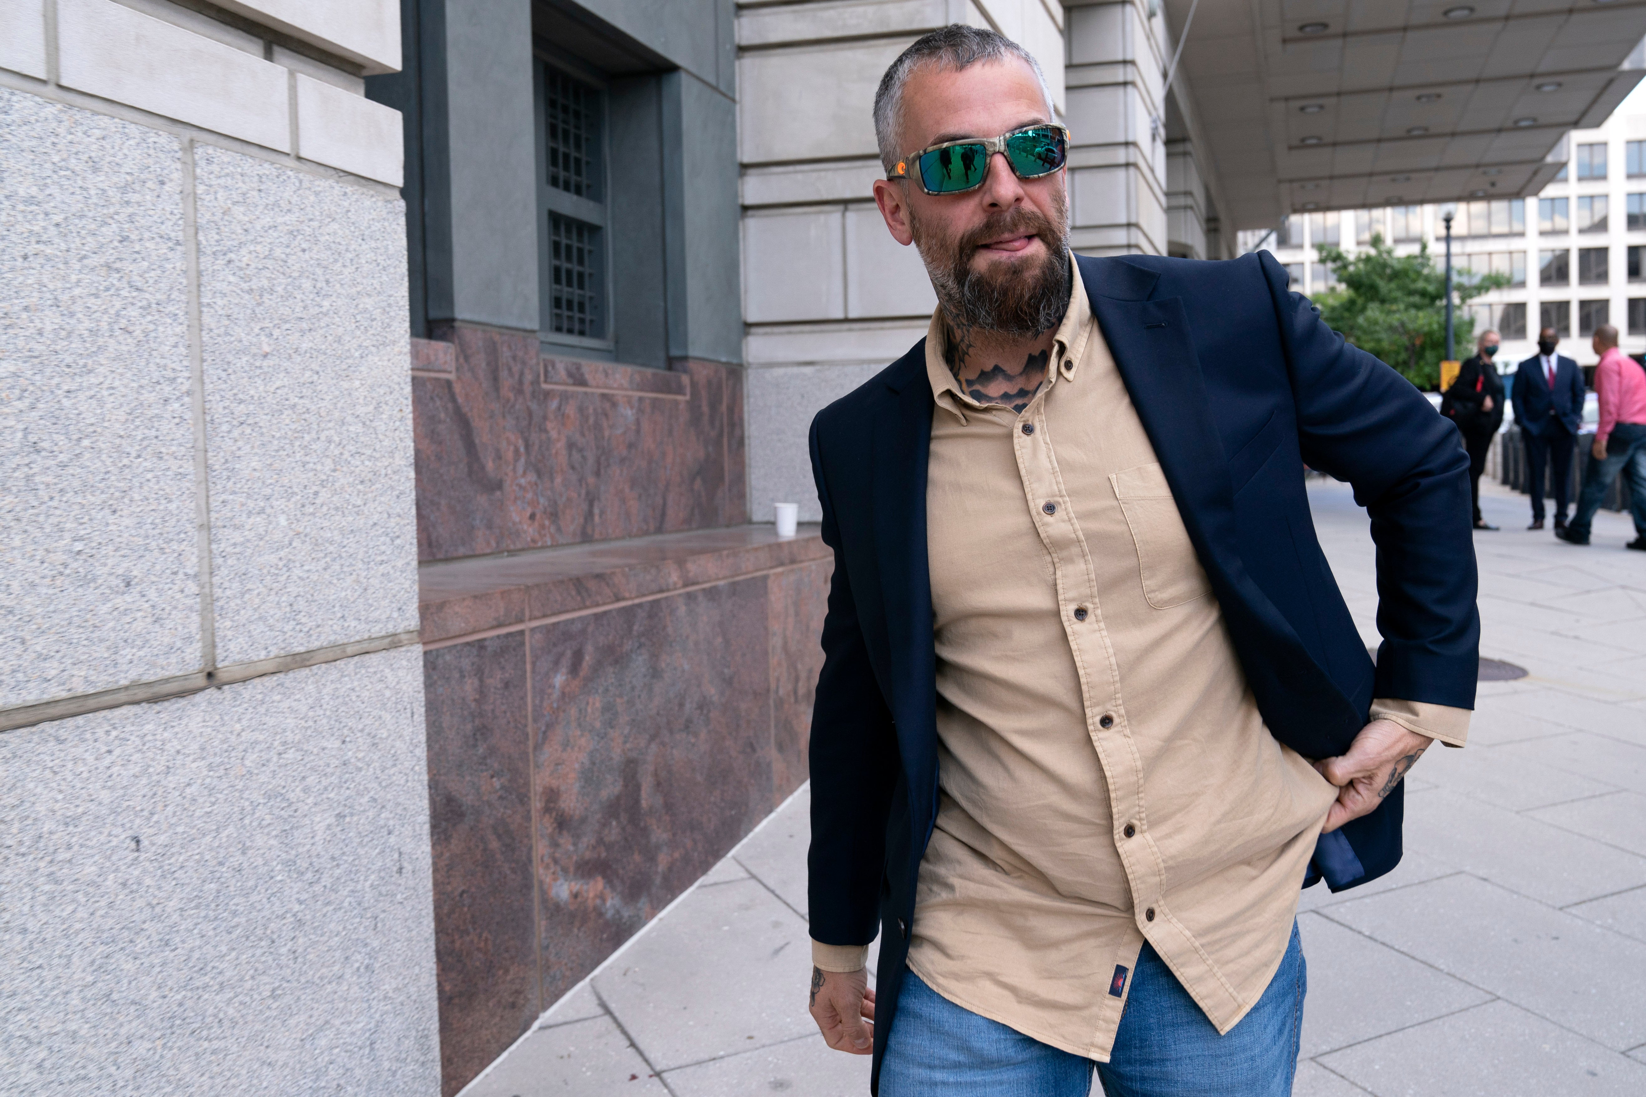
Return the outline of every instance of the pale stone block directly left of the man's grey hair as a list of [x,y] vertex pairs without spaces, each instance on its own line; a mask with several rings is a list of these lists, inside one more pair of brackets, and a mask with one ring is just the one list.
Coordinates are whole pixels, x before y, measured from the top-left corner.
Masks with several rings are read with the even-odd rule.
[[762,49],[739,58],[739,160],[764,164],[877,156],[874,90],[887,66],[918,36],[912,31],[907,38]]

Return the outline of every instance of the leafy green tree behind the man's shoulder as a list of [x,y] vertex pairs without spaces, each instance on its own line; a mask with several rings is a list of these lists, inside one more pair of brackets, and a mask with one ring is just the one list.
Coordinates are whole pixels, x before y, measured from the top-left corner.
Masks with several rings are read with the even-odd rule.
[[[1429,245],[1417,255],[1396,255],[1381,235],[1374,235],[1371,250],[1355,257],[1335,247],[1318,247],[1315,253],[1341,283],[1314,299],[1320,319],[1393,365],[1417,388],[1435,388],[1445,355],[1445,268],[1435,265]],[[1509,285],[1506,275],[1475,275],[1455,263],[1452,293],[1458,306]],[[1467,357],[1473,332],[1473,317],[1457,308],[1452,337],[1460,357]]]

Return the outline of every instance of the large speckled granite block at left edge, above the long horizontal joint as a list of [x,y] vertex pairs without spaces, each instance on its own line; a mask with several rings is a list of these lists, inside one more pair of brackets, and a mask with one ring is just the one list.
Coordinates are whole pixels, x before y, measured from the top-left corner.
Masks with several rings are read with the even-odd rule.
[[199,669],[201,589],[178,141],[0,89],[0,163],[3,707]]

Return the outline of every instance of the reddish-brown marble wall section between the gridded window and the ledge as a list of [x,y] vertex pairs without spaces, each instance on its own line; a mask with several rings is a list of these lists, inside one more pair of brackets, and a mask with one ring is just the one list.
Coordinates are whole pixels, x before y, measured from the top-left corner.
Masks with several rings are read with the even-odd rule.
[[[742,493],[741,442],[736,462],[728,457],[728,437],[742,434],[739,367],[685,360],[677,370],[688,398],[625,395],[545,385],[532,336],[463,326],[438,334],[456,345],[456,373],[415,375],[412,390],[421,559],[744,520],[732,503]],[[566,362],[555,363],[555,377],[565,375]],[[614,368],[591,365],[584,380],[611,380]]]

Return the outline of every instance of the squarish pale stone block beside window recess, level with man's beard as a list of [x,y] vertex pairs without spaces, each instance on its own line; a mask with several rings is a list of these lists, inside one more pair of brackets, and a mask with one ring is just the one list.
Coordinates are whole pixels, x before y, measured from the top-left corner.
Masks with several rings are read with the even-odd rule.
[[744,317],[751,324],[846,317],[843,212],[751,214],[742,220]]

